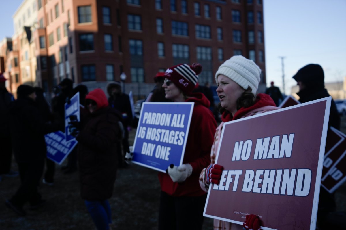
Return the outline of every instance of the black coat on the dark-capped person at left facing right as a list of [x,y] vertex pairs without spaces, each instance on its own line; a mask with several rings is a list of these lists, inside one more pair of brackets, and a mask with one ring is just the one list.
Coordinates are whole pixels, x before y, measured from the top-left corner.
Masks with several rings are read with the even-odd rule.
[[44,159],[47,153],[44,135],[57,131],[58,126],[44,123],[35,101],[27,97],[11,102],[9,114],[16,161],[20,163]]

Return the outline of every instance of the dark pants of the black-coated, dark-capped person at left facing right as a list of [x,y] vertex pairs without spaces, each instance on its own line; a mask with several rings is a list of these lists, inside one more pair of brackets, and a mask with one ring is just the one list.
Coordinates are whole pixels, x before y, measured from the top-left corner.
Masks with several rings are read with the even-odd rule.
[[18,163],[20,186],[10,201],[23,207],[29,201],[31,205],[40,202],[41,195],[37,191],[44,168],[44,158],[34,162]]

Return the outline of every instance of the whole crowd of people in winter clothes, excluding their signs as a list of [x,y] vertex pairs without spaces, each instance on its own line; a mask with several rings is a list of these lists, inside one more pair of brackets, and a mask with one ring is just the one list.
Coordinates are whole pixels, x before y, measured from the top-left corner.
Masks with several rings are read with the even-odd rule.
[[[211,184],[220,182],[223,169],[222,163],[215,164],[215,159],[224,122],[280,109],[277,106],[283,99],[274,82],[267,94],[257,93],[261,69],[252,60],[233,56],[222,63],[215,74],[216,92],[220,99],[217,109],[222,120],[217,126],[214,104],[206,91],[208,85],[203,90],[198,89],[198,74],[201,71],[202,66],[198,63],[167,68],[166,72],[154,77],[156,86],[146,99],[149,102],[194,102],[182,165],[171,164],[166,173],[158,173],[161,185],[160,230],[202,229],[208,189]],[[309,64],[293,78],[299,85],[300,102],[329,96],[319,65]],[[18,87],[17,99],[14,100],[4,87],[5,81],[1,74],[0,143],[3,149],[7,149],[0,154],[0,172],[1,176],[16,176],[16,172],[9,167],[13,151],[21,181],[6,205],[18,215],[25,216],[24,203],[29,202],[30,209],[38,209],[44,204],[37,186],[41,178],[44,184],[54,184],[55,171],[55,163],[46,158],[44,135],[64,130],[64,105],[79,92],[81,118],[69,125],[78,147],[69,154],[63,169],[66,173],[79,171],[80,193],[86,210],[97,229],[110,229],[112,216],[108,199],[113,193],[117,168],[126,164],[124,156],[130,152],[128,132],[133,117],[129,96],[121,91],[120,82],[107,85],[107,98],[102,89],[88,92],[86,86],[73,88],[73,82],[64,79],[57,86],[50,106],[42,89],[28,85]],[[333,100],[329,126],[340,129],[340,117]],[[333,194],[321,189],[318,208],[320,229],[326,229],[325,217],[334,210]],[[260,229],[260,219],[255,215],[247,216],[243,226],[214,220],[214,229],[243,228]]]

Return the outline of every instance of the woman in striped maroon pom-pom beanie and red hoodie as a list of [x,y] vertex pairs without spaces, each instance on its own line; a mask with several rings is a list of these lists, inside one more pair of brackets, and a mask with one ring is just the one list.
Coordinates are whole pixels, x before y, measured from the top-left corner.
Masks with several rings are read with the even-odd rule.
[[[216,121],[210,102],[202,93],[192,93],[198,83],[200,64],[180,64],[166,70],[162,87],[173,102],[194,102],[183,164],[159,172],[161,184],[158,229],[202,229],[207,193],[198,184],[200,171],[210,164],[210,148]],[[201,144],[203,143],[203,144]]]

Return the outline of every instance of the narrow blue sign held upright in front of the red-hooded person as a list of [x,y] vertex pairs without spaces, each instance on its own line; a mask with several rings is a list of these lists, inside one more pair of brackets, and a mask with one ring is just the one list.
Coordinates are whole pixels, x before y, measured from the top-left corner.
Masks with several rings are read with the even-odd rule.
[[80,107],[79,107],[79,92],[76,93],[70,100],[70,103],[65,103],[65,136],[66,141],[75,139],[70,134],[69,122],[71,121],[70,116],[75,115],[77,120],[80,121]]

